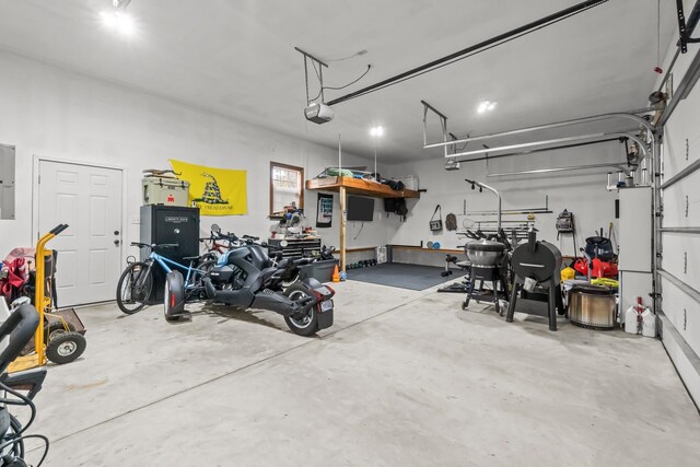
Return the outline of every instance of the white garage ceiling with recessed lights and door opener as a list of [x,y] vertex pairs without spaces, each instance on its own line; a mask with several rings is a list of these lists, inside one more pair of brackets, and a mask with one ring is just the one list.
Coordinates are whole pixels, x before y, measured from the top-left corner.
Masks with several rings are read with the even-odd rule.
[[[338,104],[306,122],[302,56],[329,61],[326,100],[452,54],[576,0],[132,0],[137,34],[107,31],[107,0],[0,0],[0,48],[127,84],[275,131],[370,155],[382,125],[384,161],[425,159],[422,105],[458,136],[639,108],[656,74],[657,0],[610,0],[526,37],[395,86]],[[674,2],[662,1],[661,49]],[[311,70],[310,70],[311,71]],[[317,83],[310,80],[317,92]],[[313,93],[315,94],[315,92]],[[498,101],[477,115],[481,100]],[[433,125],[433,138],[439,138]],[[439,156],[440,152],[434,153]]]

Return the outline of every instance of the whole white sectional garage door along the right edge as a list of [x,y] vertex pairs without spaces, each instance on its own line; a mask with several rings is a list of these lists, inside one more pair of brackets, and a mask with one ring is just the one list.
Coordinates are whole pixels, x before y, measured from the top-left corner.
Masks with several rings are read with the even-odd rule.
[[664,345],[700,400],[700,86],[664,127],[661,230]]

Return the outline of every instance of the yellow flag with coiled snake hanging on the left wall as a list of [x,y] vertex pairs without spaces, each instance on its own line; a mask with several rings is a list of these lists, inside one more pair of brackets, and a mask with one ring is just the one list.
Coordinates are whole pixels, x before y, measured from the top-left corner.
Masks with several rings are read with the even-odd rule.
[[195,203],[201,215],[232,215],[248,212],[246,173],[206,167],[170,160],[182,180],[189,182],[188,203]]

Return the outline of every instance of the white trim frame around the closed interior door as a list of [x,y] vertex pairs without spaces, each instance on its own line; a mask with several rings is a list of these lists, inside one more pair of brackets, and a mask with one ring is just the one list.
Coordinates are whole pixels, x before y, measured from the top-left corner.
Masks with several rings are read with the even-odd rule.
[[[36,243],[36,240],[38,240],[39,235],[42,234],[38,231],[38,227],[39,227],[39,164],[42,161],[55,162],[55,163],[68,164],[68,165],[82,165],[88,167],[107,168],[112,171],[121,172],[121,200],[120,200],[121,201],[121,219],[119,220],[120,222],[119,232],[121,232],[121,244],[119,245],[119,262],[120,264],[124,262],[124,258],[125,258],[124,245],[125,243],[128,242],[128,235],[129,235],[129,232],[125,230],[125,226],[129,225],[127,223],[128,168],[120,165],[112,165],[112,164],[103,164],[103,163],[95,164],[88,161],[60,159],[60,157],[34,154],[33,161],[32,161],[32,231],[30,233],[30,236],[32,237],[30,242],[31,245],[34,245]],[[36,240],[34,238],[35,234],[36,234]]]

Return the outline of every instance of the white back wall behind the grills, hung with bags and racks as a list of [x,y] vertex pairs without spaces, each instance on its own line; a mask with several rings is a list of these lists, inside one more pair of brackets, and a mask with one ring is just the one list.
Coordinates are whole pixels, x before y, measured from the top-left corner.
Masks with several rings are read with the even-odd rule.
[[[547,167],[563,167],[582,164],[622,161],[623,149],[618,143],[602,143],[595,145],[555,150],[537,154],[502,157],[489,162],[489,172],[515,172]],[[545,207],[545,196],[549,197],[551,214],[536,214],[536,227],[539,238],[559,245],[564,255],[573,254],[571,235],[564,235],[557,241],[556,219],[559,212],[568,209],[573,211],[578,227],[576,242],[583,245],[585,237],[593,236],[596,229],[603,227],[607,235],[608,225],[615,223],[616,191],[607,191],[607,175],[605,170],[587,172],[562,172],[555,174],[522,175],[504,177],[487,177],[486,161],[462,163],[459,171],[444,170],[444,157],[435,154],[433,159],[411,164],[392,166],[394,175],[417,174],[420,187],[428,189],[421,194],[420,201],[409,201],[409,215],[405,223],[394,219],[397,226],[389,242],[394,244],[416,245],[421,240],[439,241],[443,248],[455,248],[464,244],[455,233],[443,231],[432,234],[428,222],[436,205],[442,206],[443,221],[447,213],[457,214],[457,225],[462,227],[465,219],[463,213],[464,200],[467,201],[467,212],[495,210],[495,196],[487,190],[479,192],[471,190],[464,179],[476,179],[492,186],[501,192],[503,210],[521,208]],[[470,219],[495,219],[467,215]],[[503,215],[503,220],[525,220],[526,215]],[[508,224],[504,224],[508,226]]]

